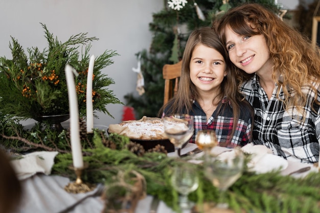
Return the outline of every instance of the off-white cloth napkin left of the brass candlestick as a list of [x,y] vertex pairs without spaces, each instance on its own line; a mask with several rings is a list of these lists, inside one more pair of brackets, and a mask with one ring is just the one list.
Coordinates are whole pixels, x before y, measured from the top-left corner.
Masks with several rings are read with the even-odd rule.
[[20,180],[27,179],[36,173],[50,175],[57,154],[58,152],[32,152],[22,155],[20,159],[11,160],[11,164]]

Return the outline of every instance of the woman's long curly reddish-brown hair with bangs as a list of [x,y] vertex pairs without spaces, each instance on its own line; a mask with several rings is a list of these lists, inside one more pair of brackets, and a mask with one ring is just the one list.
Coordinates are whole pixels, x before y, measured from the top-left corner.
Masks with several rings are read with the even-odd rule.
[[[272,79],[282,85],[285,109],[296,107],[303,114],[303,106],[307,103],[307,94],[303,90],[308,87],[317,92],[320,83],[320,56],[318,48],[310,39],[291,28],[275,13],[259,4],[244,4],[228,10],[220,19],[213,23],[221,41],[225,44],[225,29],[230,28],[238,35],[263,35],[270,50],[273,61]],[[239,75],[239,86],[252,77],[243,70]],[[281,78],[277,78],[281,76]],[[314,83],[314,85],[312,85]],[[279,98],[280,87],[277,97]],[[294,93],[294,96],[291,94]],[[316,95],[317,96],[317,95]],[[313,104],[319,104],[314,99]]]

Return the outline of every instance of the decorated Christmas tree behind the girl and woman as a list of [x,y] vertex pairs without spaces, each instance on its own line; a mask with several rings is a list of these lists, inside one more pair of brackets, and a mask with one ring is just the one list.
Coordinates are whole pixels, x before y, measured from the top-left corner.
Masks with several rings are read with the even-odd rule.
[[136,117],[156,117],[163,106],[164,79],[162,68],[181,60],[186,41],[191,31],[198,27],[211,26],[212,21],[228,9],[243,3],[259,3],[279,12],[274,0],[262,1],[216,1],[216,0],[164,0],[164,9],[153,14],[149,29],[153,34],[149,52],[136,54],[141,60],[145,92],[139,97],[126,94],[127,105],[134,108]]

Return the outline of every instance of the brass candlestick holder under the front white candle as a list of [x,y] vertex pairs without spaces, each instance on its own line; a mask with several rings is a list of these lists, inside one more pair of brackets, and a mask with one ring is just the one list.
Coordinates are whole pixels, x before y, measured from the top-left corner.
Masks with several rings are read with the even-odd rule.
[[70,166],[69,169],[75,171],[77,176],[75,182],[70,182],[66,186],[64,186],[64,190],[68,193],[78,194],[78,193],[86,193],[91,192],[96,188],[96,184],[83,183],[81,179],[82,171],[88,168],[88,163],[84,163],[82,168],[75,168]]

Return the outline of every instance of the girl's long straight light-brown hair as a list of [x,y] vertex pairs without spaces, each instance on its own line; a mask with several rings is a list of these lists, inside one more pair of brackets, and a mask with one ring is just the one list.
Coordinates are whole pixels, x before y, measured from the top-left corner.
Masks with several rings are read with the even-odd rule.
[[[192,102],[193,100],[198,99],[199,93],[197,87],[190,79],[190,60],[193,50],[199,44],[203,44],[218,51],[223,56],[226,63],[226,77],[221,83],[221,92],[214,98],[214,102],[220,102],[223,97],[226,97],[227,100],[227,103],[220,104],[221,107],[217,108],[218,115],[223,112],[224,108],[227,107],[228,104],[232,105],[234,125],[229,136],[233,135],[239,120],[239,101],[242,101],[245,104],[248,103],[244,100],[238,90],[236,76],[239,71],[231,63],[224,45],[221,43],[215,31],[210,27],[196,29],[190,34],[182,58],[181,77],[177,94],[160,109],[159,114],[162,114],[164,110],[171,114],[189,113],[192,110]],[[230,139],[232,139],[232,136]]]

